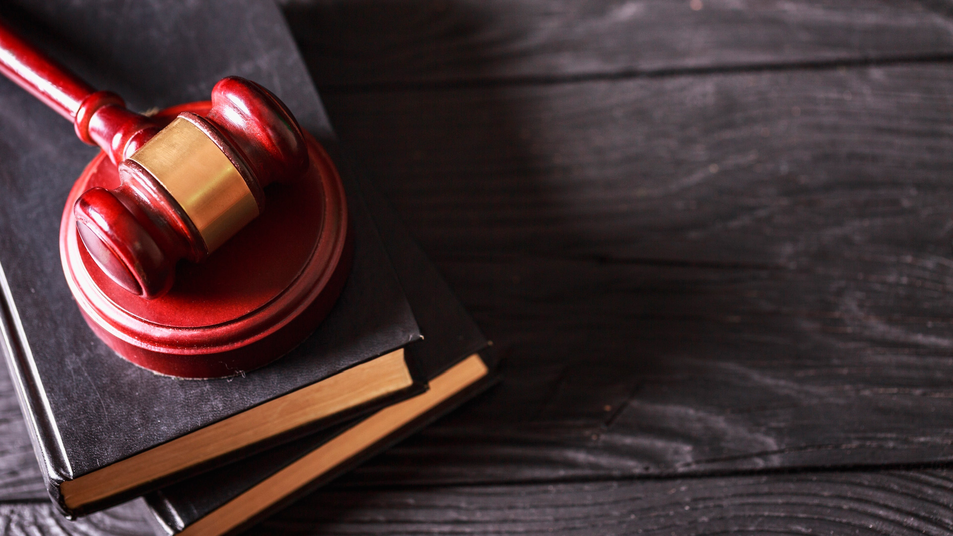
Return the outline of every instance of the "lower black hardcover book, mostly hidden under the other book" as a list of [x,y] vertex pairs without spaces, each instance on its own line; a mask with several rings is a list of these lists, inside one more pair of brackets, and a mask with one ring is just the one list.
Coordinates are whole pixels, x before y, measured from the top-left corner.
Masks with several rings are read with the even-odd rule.
[[412,434],[490,384],[489,341],[373,186],[365,198],[424,339],[407,347],[427,393],[219,467],[145,497],[156,534],[220,536],[253,525]]

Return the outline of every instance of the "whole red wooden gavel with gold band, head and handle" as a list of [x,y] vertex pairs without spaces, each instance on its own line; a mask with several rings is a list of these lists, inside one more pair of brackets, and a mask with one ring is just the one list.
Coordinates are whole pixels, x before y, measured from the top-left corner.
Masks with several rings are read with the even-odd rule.
[[258,84],[230,76],[215,84],[212,110],[180,113],[164,128],[93,90],[0,22],[0,72],[60,115],[76,135],[118,164],[121,184],[92,188],[73,206],[96,264],[146,299],[172,287],[181,258],[199,262],[264,206],[263,189],[308,168],[292,113]]

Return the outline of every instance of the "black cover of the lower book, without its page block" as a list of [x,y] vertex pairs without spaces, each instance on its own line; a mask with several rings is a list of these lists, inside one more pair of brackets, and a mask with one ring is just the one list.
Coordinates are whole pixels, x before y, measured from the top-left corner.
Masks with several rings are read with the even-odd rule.
[[[409,355],[421,368],[424,377],[430,381],[446,371],[452,365],[472,354],[479,353],[480,358],[492,370],[496,361],[490,352],[489,341],[482,335],[476,322],[466,312],[453,292],[447,286],[436,267],[420,251],[387,202],[375,191],[373,185],[360,180],[368,207],[375,219],[387,252],[394,263],[397,277],[400,279],[411,307],[414,309],[424,339],[407,347]],[[326,484],[341,473],[365,461],[391,444],[415,432],[421,426],[430,423],[440,415],[464,402],[481,388],[489,384],[478,381],[447,402],[441,403],[435,410],[420,416],[395,434],[375,443],[347,463],[322,474],[311,484],[294,490],[283,500],[268,505],[256,512],[249,521],[241,523],[229,533],[240,531],[260,520],[276,508],[287,505],[302,493],[314,490]],[[274,447],[235,464],[219,467],[213,471],[194,476],[191,479],[172,484],[145,497],[148,515],[152,516],[157,534],[175,534],[183,531],[195,522],[209,515],[216,508],[232,501],[253,485],[273,476],[282,468],[294,463],[314,449],[331,441],[363,418],[351,423],[343,423],[325,429],[311,436]],[[257,506],[257,505],[256,505]],[[205,532],[203,528],[200,532]]]

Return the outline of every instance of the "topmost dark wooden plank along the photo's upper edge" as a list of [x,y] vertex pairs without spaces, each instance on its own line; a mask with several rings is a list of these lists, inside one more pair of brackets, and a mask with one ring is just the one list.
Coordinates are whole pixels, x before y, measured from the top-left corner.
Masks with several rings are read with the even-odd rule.
[[953,54],[943,1],[285,0],[323,90]]

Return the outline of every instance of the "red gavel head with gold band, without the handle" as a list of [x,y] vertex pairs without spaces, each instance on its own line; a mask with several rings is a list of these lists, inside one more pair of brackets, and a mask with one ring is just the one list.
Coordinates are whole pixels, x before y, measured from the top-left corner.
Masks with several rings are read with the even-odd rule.
[[308,168],[294,116],[274,94],[230,76],[205,117],[180,113],[119,164],[121,184],[73,206],[96,264],[145,299],[172,287],[181,258],[200,262],[264,208],[264,187]]

